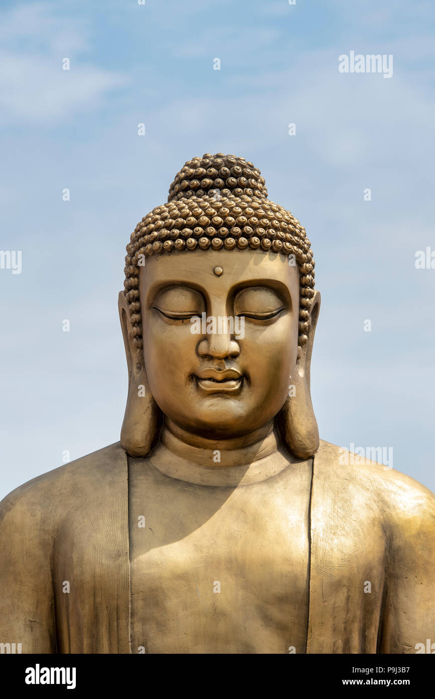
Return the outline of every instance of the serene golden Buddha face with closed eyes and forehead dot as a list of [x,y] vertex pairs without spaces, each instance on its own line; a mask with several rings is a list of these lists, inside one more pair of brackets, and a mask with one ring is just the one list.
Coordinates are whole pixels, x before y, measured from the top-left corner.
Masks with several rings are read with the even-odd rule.
[[297,267],[253,250],[172,252],[147,259],[139,284],[145,370],[163,414],[208,438],[270,424],[297,359]]

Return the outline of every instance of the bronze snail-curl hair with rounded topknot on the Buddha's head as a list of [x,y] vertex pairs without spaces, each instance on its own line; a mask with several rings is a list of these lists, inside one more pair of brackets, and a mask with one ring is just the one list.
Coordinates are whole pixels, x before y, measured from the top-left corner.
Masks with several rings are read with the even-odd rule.
[[135,347],[143,346],[139,271],[147,257],[248,248],[294,256],[300,271],[298,343],[307,343],[314,259],[305,229],[289,211],[267,199],[265,180],[250,161],[205,153],[184,164],[170,185],[168,202],[142,218],[126,247],[124,294]]

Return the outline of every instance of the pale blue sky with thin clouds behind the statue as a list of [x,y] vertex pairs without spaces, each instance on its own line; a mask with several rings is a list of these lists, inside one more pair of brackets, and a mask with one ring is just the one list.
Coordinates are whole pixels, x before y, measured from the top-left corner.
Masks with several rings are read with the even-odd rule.
[[[125,245],[204,152],[253,161],[307,229],[320,436],[393,447],[435,491],[433,3],[146,1],[0,6],[0,249],[22,250],[0,270],[0,497],[119,439]],[[339,73],[351,50],[392,78]]]

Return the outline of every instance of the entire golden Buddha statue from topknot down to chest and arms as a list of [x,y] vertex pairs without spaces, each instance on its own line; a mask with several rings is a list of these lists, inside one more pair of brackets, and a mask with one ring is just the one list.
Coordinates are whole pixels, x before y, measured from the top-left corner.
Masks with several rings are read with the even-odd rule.
[[127,246],[121,440],[0,507],[0,642],[23,653],[415,653],[435,498],[319,441],[320,296],[252,163],[188,161]]

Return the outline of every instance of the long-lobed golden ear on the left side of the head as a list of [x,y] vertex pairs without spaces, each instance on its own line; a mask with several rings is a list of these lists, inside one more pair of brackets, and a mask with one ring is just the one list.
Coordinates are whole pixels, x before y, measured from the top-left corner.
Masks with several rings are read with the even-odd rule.
[[133,329],[124,292],[118,297],[119,319],[126,350],[128,368],[128,396],[120,444],[130,456],[148,456],[158,439],[161,411],[149,390],[143,350],[133,345]]

